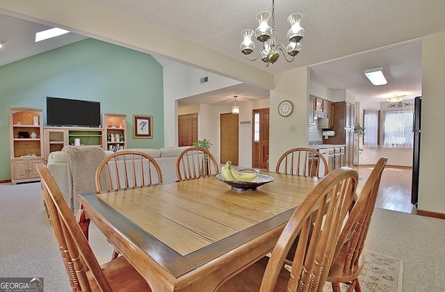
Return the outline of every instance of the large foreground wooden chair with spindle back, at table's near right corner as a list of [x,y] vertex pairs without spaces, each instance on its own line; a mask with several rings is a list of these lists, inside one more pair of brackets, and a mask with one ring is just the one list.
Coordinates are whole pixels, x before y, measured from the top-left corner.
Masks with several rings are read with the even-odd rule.
[[[352,168],[329,172],[294,211],[270,258],[262,257],[221,283],[218,291],[323,291],[357,181],[357,171]],[[290,262],[285,258],[297,236]]]

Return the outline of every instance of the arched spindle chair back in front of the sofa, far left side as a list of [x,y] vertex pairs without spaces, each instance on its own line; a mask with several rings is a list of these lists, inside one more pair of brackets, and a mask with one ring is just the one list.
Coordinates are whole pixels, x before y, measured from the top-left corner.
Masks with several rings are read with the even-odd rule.
[[106,157],[96,170],[96,190],[119,190],[160,184],[162,172],[152,156],[124,150]]

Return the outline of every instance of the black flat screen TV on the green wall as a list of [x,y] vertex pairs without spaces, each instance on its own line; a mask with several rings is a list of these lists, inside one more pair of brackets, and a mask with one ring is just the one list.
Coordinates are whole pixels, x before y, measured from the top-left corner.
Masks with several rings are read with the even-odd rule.
[[100,127],[100,102],[47,97],[47,125]]

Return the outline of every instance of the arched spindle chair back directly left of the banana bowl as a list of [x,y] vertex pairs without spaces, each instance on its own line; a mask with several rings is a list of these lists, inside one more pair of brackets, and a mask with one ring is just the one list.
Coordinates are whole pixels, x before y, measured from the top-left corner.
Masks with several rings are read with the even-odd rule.
[[178,181],[218,175],[219,168],[215,157],[207,150],[199,147],[185,149],[176,161]]

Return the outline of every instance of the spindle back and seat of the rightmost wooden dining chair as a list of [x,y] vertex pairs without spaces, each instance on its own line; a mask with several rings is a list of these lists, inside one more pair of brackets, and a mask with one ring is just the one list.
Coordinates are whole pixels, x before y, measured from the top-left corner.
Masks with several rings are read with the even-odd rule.
[[[343,276],[348,275],[350,271],[354,270],[354,268],[359,265],[359,257],[362,254],[364,241],[368,234],[375,200],[377,199],[380,187],[380,179],[382,178],[382,173],[387,161],[387,157],[382,156],[378,160],[378,163],[375,164],[375,167],[373,168],[371,175],[366,179],[366,182],[359,193],[357,202],[355,202],[353,209],[350,211],[348,220],[343,228],[343,232],[334,254],[336,264],[338,263],[342,268]],[[337,259],[337,257],[340,258]],[[337,279],[336,281],[335,278],[329,280],[330,282],[343,282],[340,281],[340,279]]]

